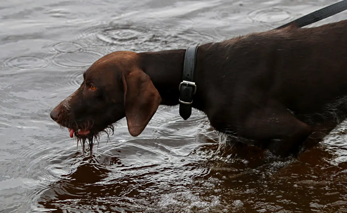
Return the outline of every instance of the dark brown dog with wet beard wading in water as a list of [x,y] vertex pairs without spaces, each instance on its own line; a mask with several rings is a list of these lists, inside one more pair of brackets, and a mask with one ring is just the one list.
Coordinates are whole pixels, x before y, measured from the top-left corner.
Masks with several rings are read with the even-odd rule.
[[[90,140],[126,117],[137,136],[160,104],[179,104],[185,51],[105,55],[50,116],[71,137]],[[286,156],[347,115],[347,21],[203,44],[195,83],[192,107],[215,130]]]

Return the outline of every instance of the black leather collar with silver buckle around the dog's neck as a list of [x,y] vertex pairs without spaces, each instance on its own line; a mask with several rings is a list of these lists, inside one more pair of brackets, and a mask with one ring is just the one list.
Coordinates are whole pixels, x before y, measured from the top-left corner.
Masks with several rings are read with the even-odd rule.
[[183,64],[183,81],[179,84],[179,115],[183,119],[188,119],[192,114],[193,95],[196,92],[194,82],[194,72],[196,63],[196,53],[199,46],[191,46],[186,50]]

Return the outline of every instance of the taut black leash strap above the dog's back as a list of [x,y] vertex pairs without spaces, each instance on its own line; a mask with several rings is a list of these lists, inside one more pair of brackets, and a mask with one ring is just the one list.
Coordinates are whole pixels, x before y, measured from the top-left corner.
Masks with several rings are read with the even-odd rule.
[[306,25],[320,21],[324,18],[328,18],[332,15],[338,14],[339,12],[342,12],[344,10],[347,10],[347,0],[339,1],[327,7],[323,7],[322,9],[311,12],[310,14],[295,19],[294,21],[290,21],[289,23],[279,26],[275,29],[287,27],[293,23],[295,23],[297,27],[304,27]]

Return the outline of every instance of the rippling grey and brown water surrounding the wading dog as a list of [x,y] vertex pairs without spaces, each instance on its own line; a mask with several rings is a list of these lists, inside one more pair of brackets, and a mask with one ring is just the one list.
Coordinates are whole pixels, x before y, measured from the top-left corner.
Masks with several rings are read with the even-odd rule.
[[2,0],[0,212],[347,212],[347,124],[281,160],[217,152],[203,114],[160,107],[140,136],[123,121],[88,157],[49,117],[102,55],[269,30],[334,2]]

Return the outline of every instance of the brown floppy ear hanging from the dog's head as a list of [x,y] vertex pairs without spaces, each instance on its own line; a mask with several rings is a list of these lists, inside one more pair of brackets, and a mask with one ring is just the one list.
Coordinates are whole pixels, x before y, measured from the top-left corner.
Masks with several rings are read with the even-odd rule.
[[142,133],[159,107],[161,97],[151,78],[141,69],[122,74],[124,106],[130,135]]

